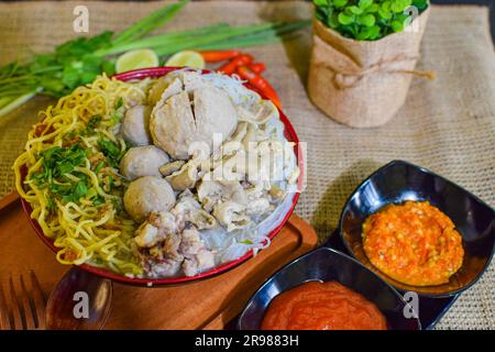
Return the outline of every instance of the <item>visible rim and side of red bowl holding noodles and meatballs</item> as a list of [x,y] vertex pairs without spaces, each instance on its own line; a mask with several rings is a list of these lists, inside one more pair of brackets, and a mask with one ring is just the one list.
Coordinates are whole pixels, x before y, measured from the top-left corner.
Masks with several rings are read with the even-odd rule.
[[[173,70],[178,69],[179,67],[154,67],[154,68],[143,68],[143,69],[136,69],[136,70],[131,70],[131,72],[127,72],[127,73],[122,73],[122,74],[118,74],[116,76],[113,76],[117,79],[120,79],[122,81],[128,81],[128,80],[132,80],[132,79],[144,79],[146,77],[161,77],[164,76]],[[209,73],[208,70],[204,70],[204,73]],[[260,94],[263,98],[264,95],[262,92],[260,92],[257,89],[251,87],[250,85],[245,85],[249,89],[252,89],[254,91],[256,91],[257,94]],[[266,98],[265,98],[266,99]],[[301,185],[301,180],[304,179],[304,164],[302,164],[302,155],[299,153],[298,150],[298,143],[299,143],[299,139],[297,138],[296,131],[294,130],[294,127],[292,125],[290,121],[288,120],[288,118],[284,114],[284,112],[282,112],[279,110],[279,116],[280,116],[280,121],[284,123],[285,127],[285,131],[284,131],[284,135],[287,139],[287,141],[289,142],[295,142],[296,145],[294,147],[294,152],[296,154],[297,161],[298,161],[298,165],[299,168],[301,170],[300,176],[299,176],[299,185]],[[22,180],[24,180],[26,176],[26,169],[25,167],[22,169]],[[300,189],[300,187],[299,187]],[[288,218],[290,217],[290,215],[294,211],[294,208],[296,207],[297,200],[299,199],[299,193],[295,193],[293,195],[293,201],[292,201],[292,207],[290,209],[285,213],[283,220],[275,227],[275,229],[267,234],[267,237],[272,240],[279,231],[280,229],[284,227],[285,222],[288,220]],[[31,223],[31,226],[33,227],[34,231],[36,232],[36,234],[38,235],[38,238],[50,248],[52,249],[52,251],[54,251],[55,253],[58,252],[58,248],[56,248],[54,245],[54,241],[47,237],[44,235],[42,228],[40,227],[40,223],[35,220],[32,219],[30,217],[31,212],[32,212],[32,208],[31,205],[25,201],[24,199],[21,198],[21,202],[22,202],[22,208],[24,209],[24,212],[28,215],[29,221]],[[253,251],[250,251],[248,253],[245,253],[243,256],[231,261],[229,263],[224,263],[218,267],[211,268],[207,272],[202,272],[199,273],[198,275],[195,276],[180,276],[180,277],[164,277],[164,278],[139,278],[139,277],[128,277],[124,275],[120,275],[118,273],[105,270],[105,268],[99,268],[96,266],[91,266],[89,264],[81,264],[79,265],[79,267],[84,271],[87,271],[89,273],[92,273],[97,276],[101,276],[101,277],[106,277],[109,279],[112,279],[114,282],[119,282],[122,284],[130,284],[130,285],[139,285],[139,286],[153,286],[153,285],[174,285],[174,284],[180,284],[180,283],[188,283],[188,282],[194,282],[197,279],[202,279],[202,278],[207,278],[213,275],[218,275],[221,273],[224,273],[238,265],[240,265],[241,263],[244,263],[245,261],[248,261],[249,258],[251,258],[253,256]]]

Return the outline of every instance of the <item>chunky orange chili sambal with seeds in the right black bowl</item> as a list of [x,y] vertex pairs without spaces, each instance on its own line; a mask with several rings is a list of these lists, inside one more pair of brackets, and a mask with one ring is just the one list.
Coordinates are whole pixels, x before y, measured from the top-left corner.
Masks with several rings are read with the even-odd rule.
[[428,201],[388,205],[371,215],[363,224],[363,246],[375,267],[414,286],[448,283],[464,256],[454,223]]

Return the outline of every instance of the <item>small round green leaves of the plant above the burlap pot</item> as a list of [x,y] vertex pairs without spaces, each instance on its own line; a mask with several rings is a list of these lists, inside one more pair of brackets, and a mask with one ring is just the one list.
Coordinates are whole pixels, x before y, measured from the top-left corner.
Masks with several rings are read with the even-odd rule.
[[376,41],[402,32],[411,22],[410,7],[418,13],[428,0],[314,0],[316,16],[345,37]]

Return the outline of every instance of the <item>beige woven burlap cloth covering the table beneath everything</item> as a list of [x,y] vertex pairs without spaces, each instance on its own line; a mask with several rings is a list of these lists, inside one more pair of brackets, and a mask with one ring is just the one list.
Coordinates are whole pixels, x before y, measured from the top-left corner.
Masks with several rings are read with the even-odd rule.
[[[95,35],[121,31],[163,2],[0,2],[0,65],[75,37],[73,9],[79,4],[88,7],[89,34]],[[311,15],[312,4],[301,1],[201,1],[188,4],[157,32]],[[336,123],[308,99],[309,28],[296,40],[248,52],[266,64],[264,76],[280,96],[300,141],[307,143],[307,188],[296,212],[311,222],[321,241],[336,229],[349,194],[395,158],[428,167],[495,206],[495,54],[486,8],[431,8],[417,69],[435,69],[437,79],[414,78],[395,118],[373,130]],[[0,196],[13,189],[12,163],[38,120],[37,111],[52,102],[36,98],[0,120]],[[0,256],[1,251],[0,244]],[[495,329],[494,267],[492,263],[461,295],[437,328]]]

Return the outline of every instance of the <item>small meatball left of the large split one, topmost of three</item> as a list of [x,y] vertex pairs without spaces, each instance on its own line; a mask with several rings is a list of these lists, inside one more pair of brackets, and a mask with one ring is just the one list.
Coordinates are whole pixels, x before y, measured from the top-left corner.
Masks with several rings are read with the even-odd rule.
[[152,107],[134,106],[125,111],[122,119],[122,138],[134,145],[150,145],[150,117]]

